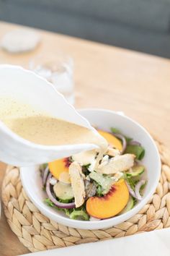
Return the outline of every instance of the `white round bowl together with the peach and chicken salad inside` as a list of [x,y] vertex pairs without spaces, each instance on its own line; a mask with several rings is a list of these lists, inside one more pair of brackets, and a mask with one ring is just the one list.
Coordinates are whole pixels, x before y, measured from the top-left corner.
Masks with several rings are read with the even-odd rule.
[[[49,219],[77,229],[106,229],[138,213],[153,195],[161,161],[151,135],[115,111],[83,109],[109,147],[20,168],[30,200]],[[115,127],[115,128],[112,128]]]

